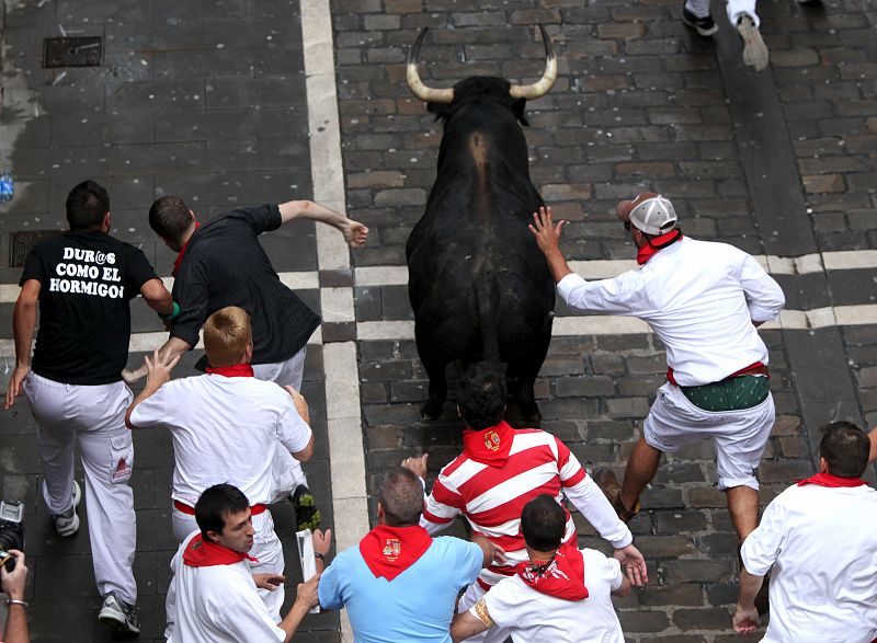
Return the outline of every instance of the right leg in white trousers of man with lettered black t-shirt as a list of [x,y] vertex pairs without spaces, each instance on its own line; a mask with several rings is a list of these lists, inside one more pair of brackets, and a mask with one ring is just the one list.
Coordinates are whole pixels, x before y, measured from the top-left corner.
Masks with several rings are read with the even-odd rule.
[[132,563],[137,539],[134,492],[128,486],[134,467],[132,433],[125,410],[132,393],[124,382],[78,387],[79,448],[86,471],[89,536],[98,590],[134,605],[137,583]]

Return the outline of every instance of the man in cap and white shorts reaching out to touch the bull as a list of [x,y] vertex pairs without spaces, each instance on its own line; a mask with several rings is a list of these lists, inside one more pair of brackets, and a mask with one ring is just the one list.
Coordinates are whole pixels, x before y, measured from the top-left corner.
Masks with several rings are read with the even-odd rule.
[[633,315],[667,346],[668,381],[658,390],[624,482],[611,471],[597,483],[618,515],[639,512],[639,495],[658,471],[662,451],[711,438],[719,489],[743,540],[759,517],[755,469],[774,424],[767,347],[755,328],[785,305],[779,286],[755,260],[726,243],[697,241],[677,228],[669,199],[645,193],[617,206],[637,246],[639,269],[585,282],[560,253],[550,208],[533,215],[531,231],[545,253],[563,300],[581,310]]

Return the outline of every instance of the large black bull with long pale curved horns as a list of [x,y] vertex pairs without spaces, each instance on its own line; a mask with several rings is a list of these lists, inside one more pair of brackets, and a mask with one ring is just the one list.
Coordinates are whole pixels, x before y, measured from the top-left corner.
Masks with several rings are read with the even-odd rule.
[[444,123],[435,184],[406,245],[414,335],[430,378],[428,418],[442,413],[447,365],[480,360],[504,365],[521,414],[538,417],[533,386],[551,340],[555,286],[527,229],[544,202],[521,126],[526,99],[546,93],[557,74],[542,33],[546,71],[533,85],[474,77],[433,90],[417,76],[425,31],[409,55],[411,90]]

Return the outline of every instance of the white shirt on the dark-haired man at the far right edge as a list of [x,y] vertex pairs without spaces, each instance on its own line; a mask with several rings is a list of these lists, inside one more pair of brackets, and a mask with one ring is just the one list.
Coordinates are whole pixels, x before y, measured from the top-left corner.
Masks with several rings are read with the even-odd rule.
[[794,485],[764,509],[741,549],[771,574],[770,643],[870,643],[877,638],[877,492]]

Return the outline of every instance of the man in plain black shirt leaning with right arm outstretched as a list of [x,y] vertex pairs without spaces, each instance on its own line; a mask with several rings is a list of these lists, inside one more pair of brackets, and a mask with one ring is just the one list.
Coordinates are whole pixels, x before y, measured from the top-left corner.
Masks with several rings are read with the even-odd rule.
[[[152,204],[149,225],[180,253],[172,273],[180,314],[160,348],[166,363],[197,344],[207,317],[237,306],[250,313],[252,321],[255,377],[301,389],[307,341],[320,319],[280,280],[258,239],[262,232],[299,218],[333,226],[352,248],[361,246],[368,236],[362,223],[310,200],[239,209],[203,226],[179,196],[164,196]],[[146,367],[125,377],[130,383],[144,375]],[[295,490],[292,498],[298,529],[316,529],[320,513],[301,466],[288,452],[280,451],[274,462],[276,490]]]

